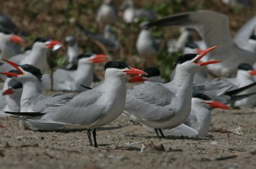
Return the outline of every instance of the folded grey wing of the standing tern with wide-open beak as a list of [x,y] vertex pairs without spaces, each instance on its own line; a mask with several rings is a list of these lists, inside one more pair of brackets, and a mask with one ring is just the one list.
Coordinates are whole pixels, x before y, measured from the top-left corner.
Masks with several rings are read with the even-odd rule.
[[149,121],[162,121],[173,116],[170,107],[173,96],[163,85],[145,82],[127,91],[125,112]]

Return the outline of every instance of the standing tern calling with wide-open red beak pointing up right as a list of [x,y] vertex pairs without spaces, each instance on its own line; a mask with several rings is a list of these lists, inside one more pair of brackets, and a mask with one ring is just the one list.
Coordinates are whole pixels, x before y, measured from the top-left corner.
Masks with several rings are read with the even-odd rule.
[[[193,78],[201,66],[221,61],[198,62],[211,47],[202,54],[186,54],[177,58],[176,73],[172,82],[161,84],[144,82],[127,91],[125,114],[161,133],[163,128],[174,128],[186,120],[191,110]],[[162,133],[161,133],[162,135]],[[163,135],[162,135],[163,136]]]

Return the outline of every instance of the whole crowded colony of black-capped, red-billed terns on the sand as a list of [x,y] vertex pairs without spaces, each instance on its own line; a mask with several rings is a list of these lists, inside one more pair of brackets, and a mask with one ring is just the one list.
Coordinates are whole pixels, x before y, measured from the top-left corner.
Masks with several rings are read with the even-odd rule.
[[[106,34],[94,38],[118,50],[111,32],[117,18],[113,5],[106,0],[100,6],[95,20],[104,26]],[[20,128],[33,131],[87,129],[88,142],[98,147],[96,129],[121,114],[156,133],[158,138],[205,137],[213,108],[229,110],[230,103],[234,107],[255,108],[256,17],[232,38],[228,17],[217,11],[199,10],[157,18],[154,11],[134,8],[131,0],[125,1],[122,8],[125,23],[141,17],[147,21],[140,25],[136,41],[136,50],[146,61],[156,59],[159,50],[152,27],[180,26],[180,37],[168,41],[168,52],[184,53],[175,61],[170,82],[163,83],[159,68],[154,66],[140,70],[107,55],[79,54],[79,44],[73,36],[65,38],[67,65],[56,69],[51,77],[47,51],[59,50],[62,43],[36,38],[30,48],[21,52],[17,43],[22,43],[25,36],[14,34],[18,27],[1,13],[0,77],[4,84],[0,117],[15,115]],[[192,31],[197,31],[202,41],[194,41]],[[99,62],[105,64],[104,80],[93,86],[94,64]],[[126,75],[133,76],[129,79],[130,83],[136,82],[133,89],[126,88]],[[42,94],[51,82],[54,91],[79,94]]]

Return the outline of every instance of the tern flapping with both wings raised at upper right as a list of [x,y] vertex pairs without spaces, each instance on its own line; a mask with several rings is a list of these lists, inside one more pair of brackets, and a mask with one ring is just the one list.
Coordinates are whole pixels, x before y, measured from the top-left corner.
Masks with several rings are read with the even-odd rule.
[[220,45],[220,50],[214,50],[208,57],[205,57],[206,61],[225,58],[225,62],[221,62],[221,64],[207,66],[207,69],[218,77],[234,75],[240,62],[245,61],[250,64],[256,62],[256,57],[254,57],[256,43],[249,41],[256,26],[256,17],[244,24],[234,40],[230,34],[228,17],[216,11],[199,10],[179,13],[151,22],[146,27],[171,25],[195,29],[207,47]]

